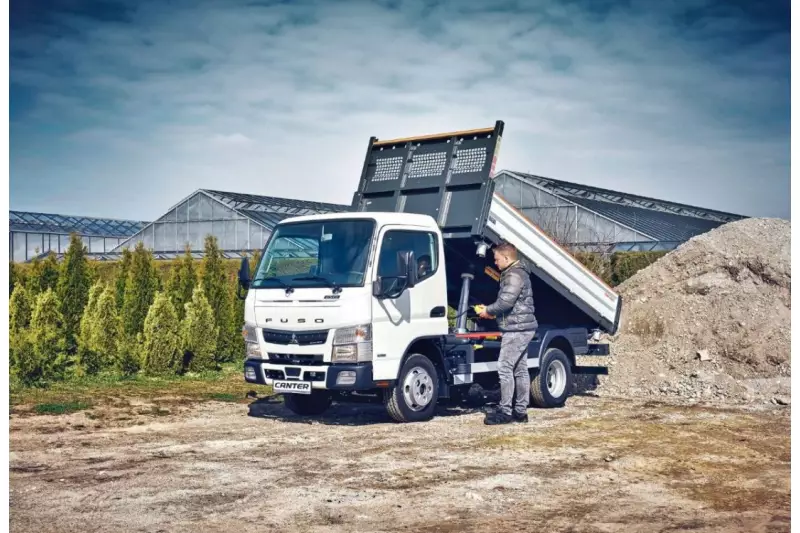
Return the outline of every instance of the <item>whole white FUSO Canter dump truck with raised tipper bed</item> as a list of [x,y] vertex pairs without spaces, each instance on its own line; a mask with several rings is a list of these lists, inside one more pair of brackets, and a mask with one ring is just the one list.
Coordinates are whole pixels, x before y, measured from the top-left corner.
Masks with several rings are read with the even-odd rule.
[[350,212],[281,221],[252,275],[246,258],[239,271],[245,380],[300,415],[367,400],[399,422],[497,389],[502,333],[472,309],[497,297],[491,247],[503,241],[532,272],[532,404],[563,405],[573,374],[606,373],[575,357],[608,354],[597,335],[616,332],[621,298],[494,193],[502,134],[498,121],[373,137]]

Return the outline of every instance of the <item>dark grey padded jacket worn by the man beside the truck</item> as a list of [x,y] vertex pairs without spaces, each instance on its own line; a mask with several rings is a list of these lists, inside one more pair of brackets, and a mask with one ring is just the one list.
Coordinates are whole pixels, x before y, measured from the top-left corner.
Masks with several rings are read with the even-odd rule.
[[528,266],[517,261],[500,275],[500,292],[497,301],[486,307],[486,311],[497,317],[501,331],[533,331],[536,321],[533,306],[533,290]]

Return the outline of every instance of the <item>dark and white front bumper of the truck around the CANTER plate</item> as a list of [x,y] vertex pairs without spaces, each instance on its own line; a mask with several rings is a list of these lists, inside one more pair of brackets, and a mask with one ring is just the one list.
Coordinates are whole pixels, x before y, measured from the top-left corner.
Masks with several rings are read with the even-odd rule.
[[[252,375],[249,377],[248,368],[252,369]],[[285,365],[264,359],[247,359],[244,363],[244,372],[245,381],[258,385],[272,385],[275,380],[297,380],[310,382],[312,389],[358,391],[375,388],[372,363]],[[341,372],[355,372],[355,383],[337,384]]]

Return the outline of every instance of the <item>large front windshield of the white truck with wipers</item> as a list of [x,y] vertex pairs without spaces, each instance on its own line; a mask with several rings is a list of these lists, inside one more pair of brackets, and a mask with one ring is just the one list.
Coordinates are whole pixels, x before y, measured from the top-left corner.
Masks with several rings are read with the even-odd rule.
[[362,286],[374,227],[372,220],[280,225],[264,250],[251,286]]

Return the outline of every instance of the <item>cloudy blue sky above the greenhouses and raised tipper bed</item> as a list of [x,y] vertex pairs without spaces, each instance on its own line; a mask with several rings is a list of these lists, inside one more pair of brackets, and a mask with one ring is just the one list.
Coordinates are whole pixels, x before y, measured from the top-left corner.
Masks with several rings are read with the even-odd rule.
[[12,0],[10,204],[349,203],[371,135],[501,119],[498,169],[788,218],[789,42],[788,0]]

